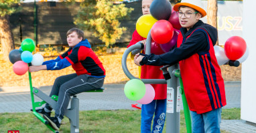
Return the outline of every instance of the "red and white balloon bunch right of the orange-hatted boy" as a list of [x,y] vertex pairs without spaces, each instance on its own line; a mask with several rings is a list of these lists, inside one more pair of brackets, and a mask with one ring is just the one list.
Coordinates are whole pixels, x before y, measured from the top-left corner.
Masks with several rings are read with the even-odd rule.
[[239,36],[233,36],[227,39],[224,48],[215,45],[214,51],[218,65],[224,65],[230,60],[242,63],[249,56],[247,44],[245,40]]

